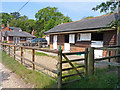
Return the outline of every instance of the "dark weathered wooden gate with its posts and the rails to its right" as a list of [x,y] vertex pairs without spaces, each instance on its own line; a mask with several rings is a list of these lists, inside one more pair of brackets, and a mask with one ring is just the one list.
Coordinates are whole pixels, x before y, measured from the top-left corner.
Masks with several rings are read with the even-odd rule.
[[[97,58],[95,59],[94,57],[94,50],[108,50],[109,51],[109,57],[103,57],[103,58]],[[120,46],[109,46],[109,47],[101,47],[101,48],[86,48],[84,52],[70,52],[70,53],[62,53],[62,50],[59,51],[59,67],[58,67],[58,88],[61,88],[62,85],[66,85],[75,81],[79,81],[80,79],[68,81],[68,82],[63,82],[62,79],[72,77],[79,75],[81,78],[84,78],[85,75],[93,75],[94,74],[94,63],[96,61],[102,61],[102,60],[108,60],[110,62],[111,58],[117,58],[120,57],[120,54],[112,55],[111,56],[111,51],[116,51],[118,52],[120,50]],[[77,55],[77,54],[84,54],[84,58],[82,59],[76,59],[76,60],[69,60],[66,55]],[[66,61],[62,61],[62,56],[65,58]],[[84,61],[84,65],[82,66],[77,66],[75,67],[71,62],[77,62],[77,61]],[[64,63],[69,63],[72,68],[66,68],[62,69],[62,65]],[[80,72],[77,69],[78,68],[83,68],[84,67],[84,72]],[[63,71],[68,71],[74,69],[77,73],[75,74],[70,74],[67,76],[62,76]]]

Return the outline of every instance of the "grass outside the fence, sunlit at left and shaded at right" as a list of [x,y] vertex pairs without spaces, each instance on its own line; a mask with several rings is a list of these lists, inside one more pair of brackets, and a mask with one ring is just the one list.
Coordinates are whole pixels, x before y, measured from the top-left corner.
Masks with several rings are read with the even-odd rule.
[[[20,78],[25,80],[25,82],[34,84],[37,88],[57,87],[55,79],[40,72],[31,71],[12,57],[5,55],[5,53],[2,54],[2,63],[20,76]],[[120,76],[117,74],[117,69],[120,69],[120,67],[96,69],[94,75],[85,77],[78,82],[65,85],[63,88],[120,88]],[[75,71],[69,71],[68,74],[73,72]],[[76,78],[79,77],[66,78],[63,81],[69,81]]]

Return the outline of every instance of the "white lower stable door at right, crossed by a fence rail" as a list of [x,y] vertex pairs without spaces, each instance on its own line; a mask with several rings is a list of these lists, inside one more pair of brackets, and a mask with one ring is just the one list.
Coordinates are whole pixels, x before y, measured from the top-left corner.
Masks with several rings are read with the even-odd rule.
[[[103,47],[103,41],[91,41],[91,47]],[[94,51],[95,58],[100,58],[103,56],[103,50]]]

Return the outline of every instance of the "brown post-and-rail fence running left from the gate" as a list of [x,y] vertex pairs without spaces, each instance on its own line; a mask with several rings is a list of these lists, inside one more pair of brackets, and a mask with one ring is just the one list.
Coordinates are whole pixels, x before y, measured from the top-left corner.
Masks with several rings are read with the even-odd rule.
[[[1,44],[2,45],[2,51],[4,51],[5,53],[8,53],[8,55],[13,56],[14,59],[16,59],[16,57],[20,58],[20,63],[23,64],[23,60],[26,60],[30,63],[32,63],[32,70],[35,70],[35,65],[41,68],[44,68],[45,70],[48,70],[54,74],[57,74],[58,72],[50,69],[46,66],[43,66],[41,64],[38,64],[35,62],[35,50],[40,50],[40,51],[45,51],[45,52],[52,52],[52,53],[58,53],[58,51],[56,50],[47,50],[47,49],[41,49],[41,48],[35,48],[35,47],[27,47],[27,46],[20,46],[20,45],[12,45],[12,44]],[[7,49],[8,47],[8,49]],[[16,54],[16,48],[20,48],[20,55]],[[13,51],[11,50],[11,48],[13,48]],[[23,49],[29,49],[32,50],[32,60],[23,57]]]

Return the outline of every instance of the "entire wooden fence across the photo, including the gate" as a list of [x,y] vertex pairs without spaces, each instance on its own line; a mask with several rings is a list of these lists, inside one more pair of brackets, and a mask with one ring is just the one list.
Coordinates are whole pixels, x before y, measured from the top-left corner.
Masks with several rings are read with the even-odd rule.
[[[69,52],[69,53],[63,53],[62,50],[48,50],[48,49],[41,49],[41,48],[35,48],[35,47],[27,47],[27,46],[20,46],[20,45],[12,45],[12,44],[1,44],[2,45],[2,50],[5,52],[8,52],[9,55],[12,55],[14,57],[14,59],[16,59],[16,56],[20,57],[20,62],[21,64],[23,64],[23,59],[32,63],[32,69],[35,70],[35,65],[44,68],[45,70],[48,70],[54,74],[57,74],[58,78],[57,78],[57,83],[58,83],[58,88],[61,88],[62,85],[66,85],[75,81],[79,81],[81,78],[84,78],[84,76],[88,75],[88,74],[94,74],[94,63],[96,61],[101,61],[101,60],[108,60],[108,62],[110,62],[111,58],[118,58],[120,57],[120,54],[116,54],[114,56],[111,56],[111,51],[119,51],[120,50],[120,46],[109,46],[109,47],[101,47],[101,48],[86,48],[84,52]],[[8,47],[8,51],[6,51],[6,47]],[[11,47],[13,47],[13,52],[11,52]],[[19,47],[21,54],[17,55],[16,54],[16,48]],[[23,57],[23,49],[30,49],[32,50],[32,61]],[[35,50],[40,50],[40,51],[45,51],[45,52],[50,52],[50,53],[56,53],[58,54],[58,70],[55,71],[53,69],[50,69],[48,67],[45,67],[41,64],[38,64],[35,62]],[[109,51],[109,56],[108,57],[103,57],[103,58],[94,58],[94,50],[107,50]],[[84,58],[80,58],[80,59],[74,59],[74,60],[69,60],[68,59],[68,55],[77,55],[77,54],[84,54]],[[65,60],[63,60],[63,57]],[[84,61],[84,65],[80,65],[80,66],[75,66],[73,65],[72,62],[78,62],[78,61]],[[63,69],[62,66],[63,64],[68,63],[71,67],[70,68],[65,68]],[[84,72],[81,72],[78,70],[78,68],[84,68]],[[69,71],[69,70],[75,70],[76,73],[74,74],[70,74],[70,75],[66,75],[63,76],[62,72],[64,71]],[[72,80],[72,81],[68,81],[68,82],[63,82],[64,78],[68,78],[68,77],[73,77],[78,75],[80,78],[76,79],[76,80]]]

